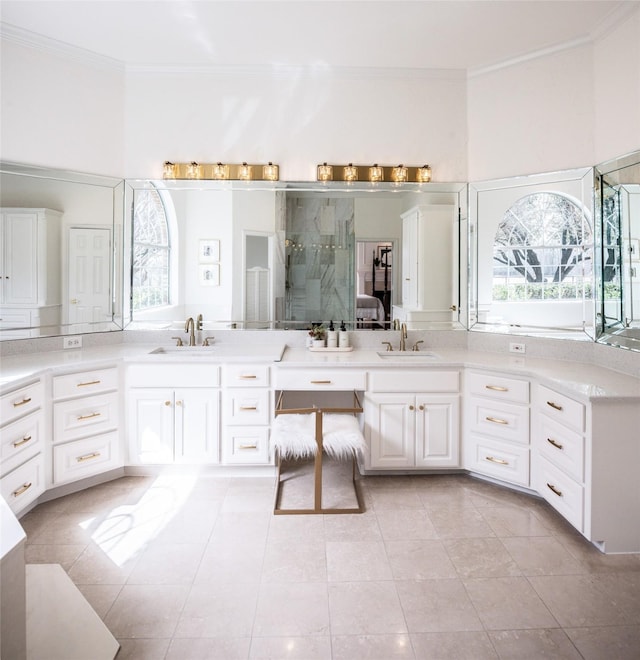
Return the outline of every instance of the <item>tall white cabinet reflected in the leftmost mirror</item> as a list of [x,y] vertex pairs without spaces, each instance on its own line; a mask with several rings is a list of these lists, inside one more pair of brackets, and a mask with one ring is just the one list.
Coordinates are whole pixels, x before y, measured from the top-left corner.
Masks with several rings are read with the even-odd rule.
[[[0,209],[0,329],[7,338],[38,336],[60,323],[62,213]],[[30,330],[31,329],[31,330]]]

